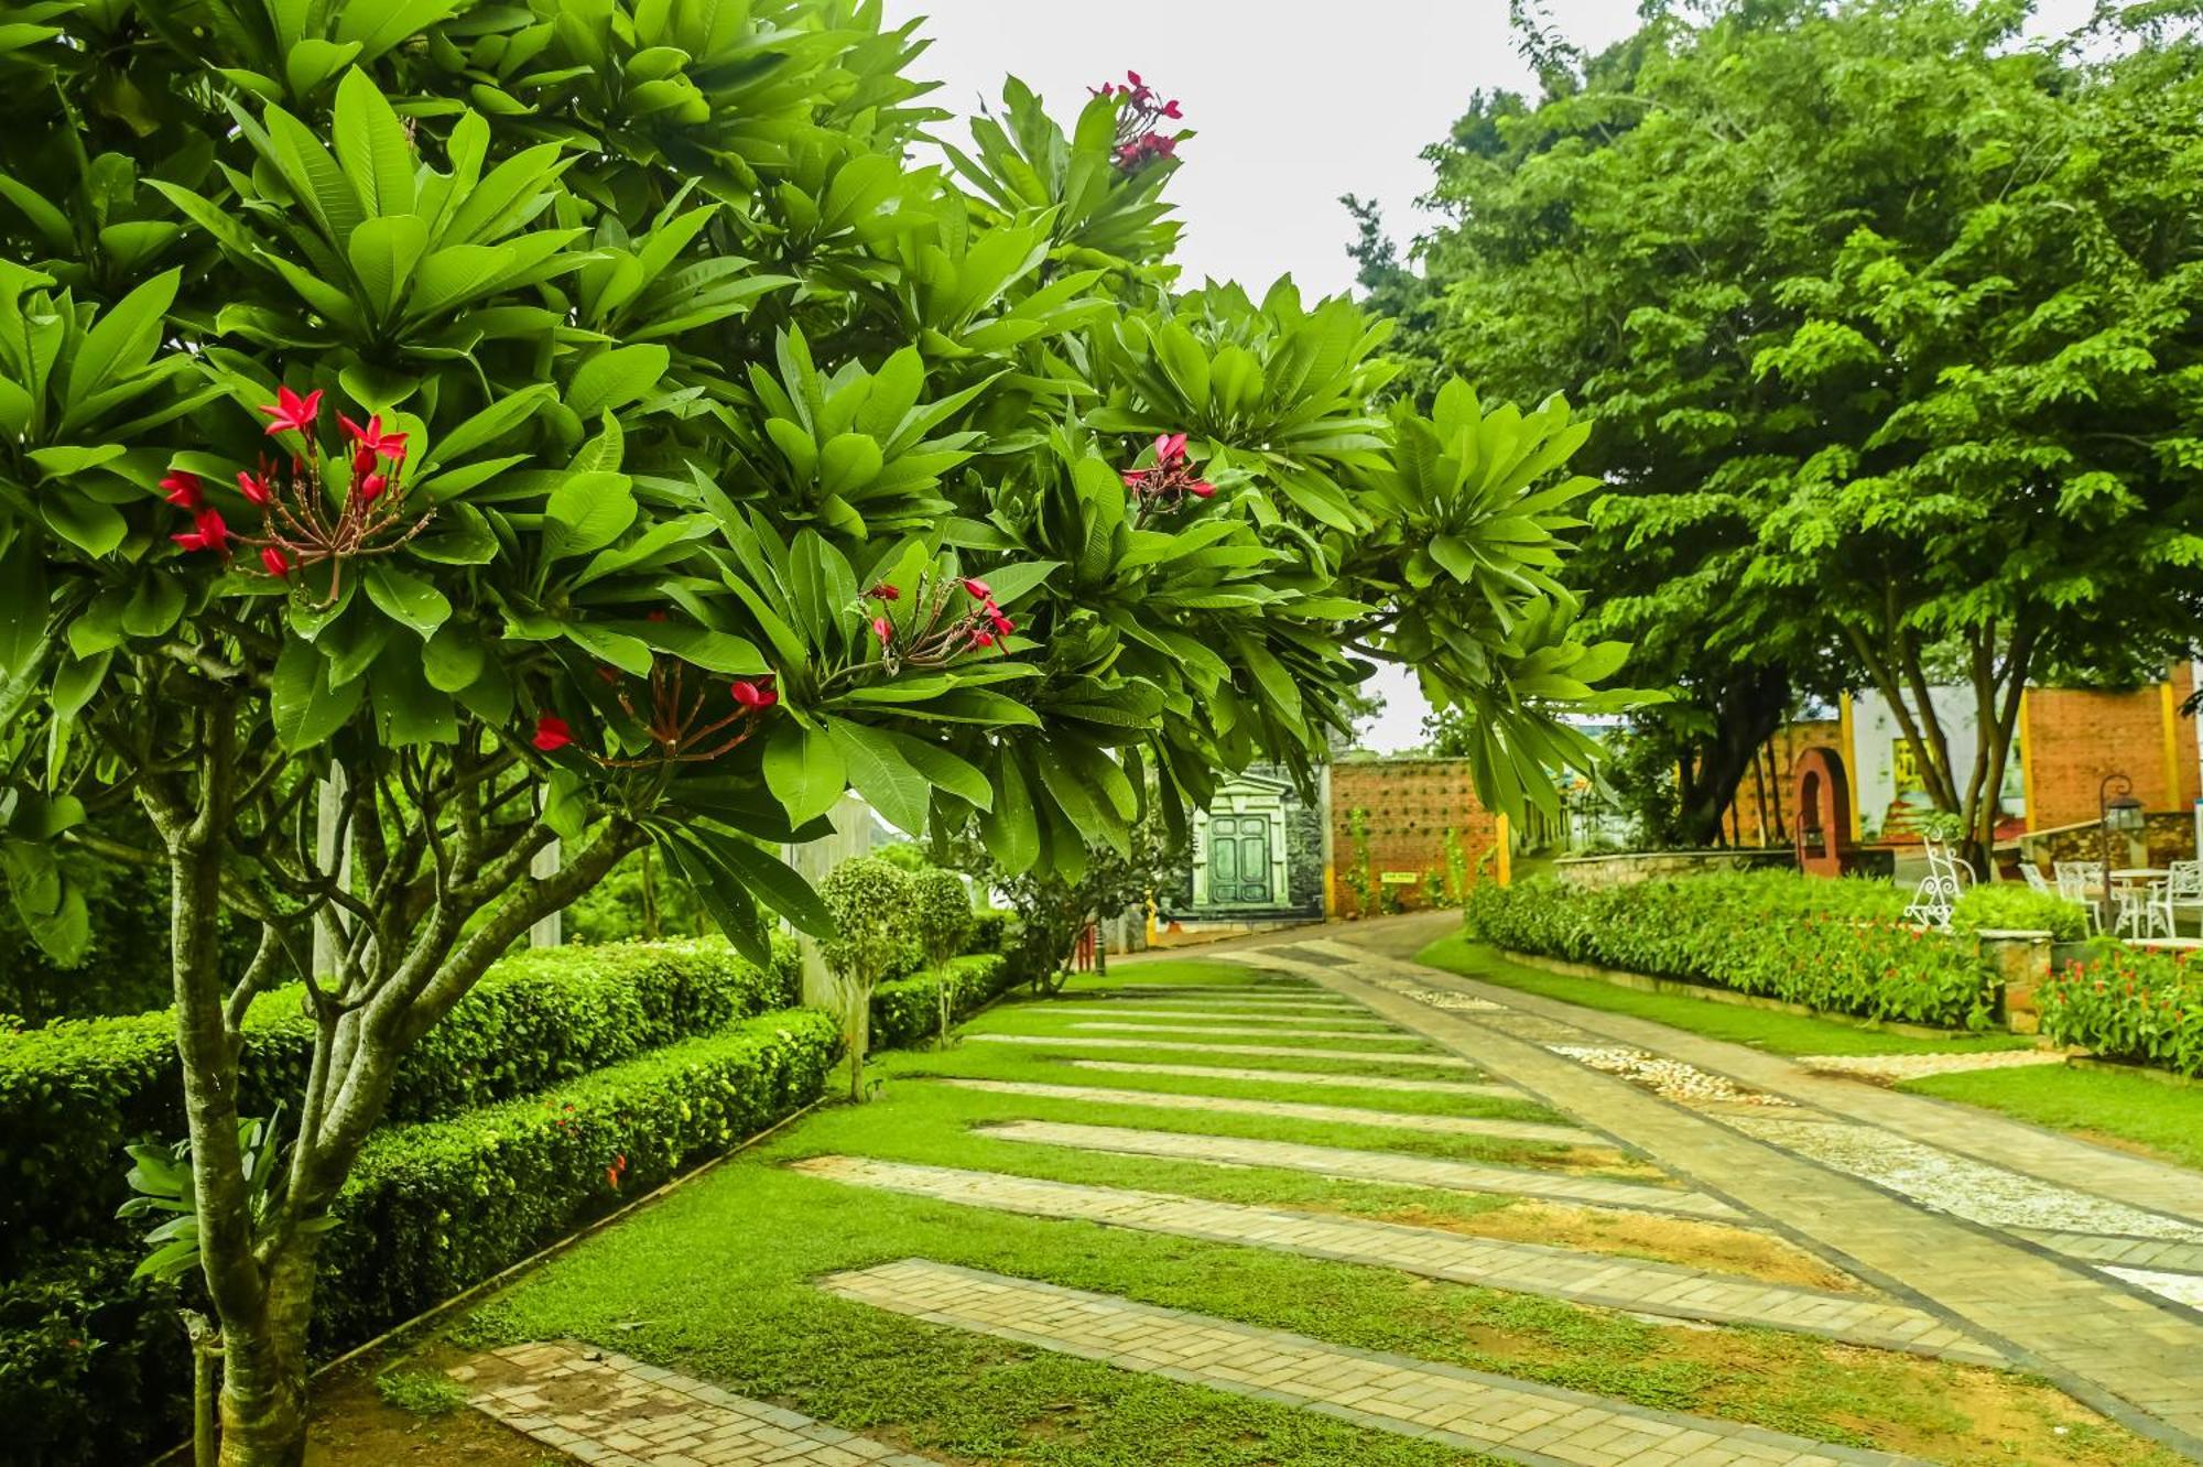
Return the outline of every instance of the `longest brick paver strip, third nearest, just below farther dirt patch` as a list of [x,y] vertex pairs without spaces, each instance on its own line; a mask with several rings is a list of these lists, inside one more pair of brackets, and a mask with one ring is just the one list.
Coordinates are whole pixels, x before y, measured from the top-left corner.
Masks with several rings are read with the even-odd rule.
[[811,1156],[789,1165],[795,1172],[857,1187],[879,1187],[965,1207],[1075,1218],[1176,1238],[1276,1249],[1632,1315],[1756,1324],[1877,1350],[1903,1350],[1978,1366],[2000,1363],[1994,1350],[1967,1339],[1941,1319],[1908,1304],[1890,1304],[1864,1293],[1769,1284],[1734,1273],[1705,1273],[1617,1253],[1500,1242],[1436,1227],[1209,1203],[1130,1187],[1084,1187],[868,1156]]

